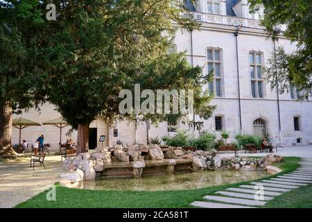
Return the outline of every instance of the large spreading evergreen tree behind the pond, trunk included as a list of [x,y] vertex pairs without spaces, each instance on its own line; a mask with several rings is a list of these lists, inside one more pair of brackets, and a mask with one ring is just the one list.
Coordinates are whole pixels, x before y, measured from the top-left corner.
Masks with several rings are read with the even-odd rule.
[[[182,17],[182,1],[84,0],[55,1],[57,21],[49,24],[51,61],[47,100],[78,129],[78,153],[88,151],[89,124],[101,115],[107,122],[119,114],[121,89],[196,89],[205,82],[200,67],[184,53],[168,53],[177,24],[196,28]],[[203,79],[204,78],[204,79]],[[204,81],[203,81],[204,80]],[[197,94],[205,103],[207,95]],[[200,109],[198,109],[200,110]],[[211,113],[202,109],[203,115]],[[154,115],[155,121],[163,115]],[[150,119],[150,117],[148,117]]]

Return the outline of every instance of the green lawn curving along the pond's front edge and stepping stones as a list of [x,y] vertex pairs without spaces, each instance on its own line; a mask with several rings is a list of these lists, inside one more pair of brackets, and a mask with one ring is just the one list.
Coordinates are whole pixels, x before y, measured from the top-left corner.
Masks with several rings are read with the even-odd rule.
[[[285,157],[284,162],[279,163],[276,166],[284,170],[282,173],[286,173],[298,167],[297,162],[299,162],[299,160],[299,157]],[[278,173],[275,176],[279,174],[281,173]],[[270,176],[268,178],[275,176]],[[212,194],[214,191],[226,189],[227,187],[238,187],[239,185],[247,184],[249,182],[250,181],[245,181],[231,185],[181,191],[96,191],[87,189],[69,189],[57,185],[55,201],[47,201],[45,191],[15,207],[190,207],[189,204],[194,200],[202,200],[203,196]],[[304,187],[303,189],[306,190],[306,188],[307,187]],[[297,195],[297,193],[293,194],[293,192],[294,191],[289,192],[291,194],[290,197],[288,197],[287,194],[284,194],[279,196],[279,199],[284,201],[289,198],[294,204],[296,201],[295,195]],[[302,194],[304,194],[303,191]],[[308,196],[306,196],[306,200],[309,200]],[[281,203],[277,204],[275,202],[276,201],[272,201],[272,204],[268,206],[279,207],[279,204]],[[309,201],[298,202],[298,205],[302,206],[304,203],[309,203]],[[309,203],[309,205],[311,205],[311,203]]]

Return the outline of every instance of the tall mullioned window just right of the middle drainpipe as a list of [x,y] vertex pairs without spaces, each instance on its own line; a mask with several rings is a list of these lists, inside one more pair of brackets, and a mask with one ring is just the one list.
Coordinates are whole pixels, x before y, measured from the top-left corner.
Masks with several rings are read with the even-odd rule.
[[251,51],[249,53],[249,63],[252,98],[264,98],[263,54]]

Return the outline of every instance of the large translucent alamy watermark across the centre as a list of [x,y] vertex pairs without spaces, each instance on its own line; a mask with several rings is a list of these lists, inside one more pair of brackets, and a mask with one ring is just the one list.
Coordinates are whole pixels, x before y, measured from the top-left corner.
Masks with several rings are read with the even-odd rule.
[[[122,89],[119,98],[121,114],[189,114],[193,112],[193,89],[144,89],[135,84],[134,95],[129,89]],[[145,99],[141,103],[141,99]],[[156,104],[155,104],[156,102]],[[134,104],[133,104],[134,103]],[[172,111],[171,111],[172,110]]]

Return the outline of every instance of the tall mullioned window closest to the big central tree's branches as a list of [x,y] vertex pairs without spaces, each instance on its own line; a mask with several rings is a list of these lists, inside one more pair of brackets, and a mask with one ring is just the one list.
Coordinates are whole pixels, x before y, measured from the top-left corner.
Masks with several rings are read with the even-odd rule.
[[210,74],[214,71],[214,77],[209,82],[209,92],[214,96],[223,96],[223,70],[222,70],[222,51],[221,49],[209,48],[207,49],[207,71]]

